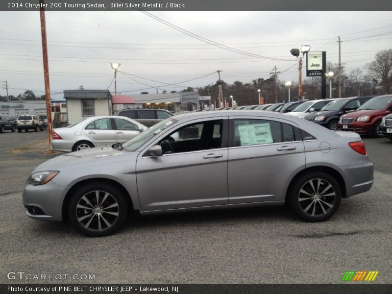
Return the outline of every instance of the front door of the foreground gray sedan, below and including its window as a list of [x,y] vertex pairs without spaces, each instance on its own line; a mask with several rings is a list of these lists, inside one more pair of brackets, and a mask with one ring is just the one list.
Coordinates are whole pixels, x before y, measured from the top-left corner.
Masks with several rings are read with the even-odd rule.
[[[158,144],[163,155],[149,156],[148,148]],[[149,147],[136,162],[144,212],[228,203],[227,121],[223,117],[183,123]]]

